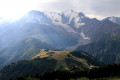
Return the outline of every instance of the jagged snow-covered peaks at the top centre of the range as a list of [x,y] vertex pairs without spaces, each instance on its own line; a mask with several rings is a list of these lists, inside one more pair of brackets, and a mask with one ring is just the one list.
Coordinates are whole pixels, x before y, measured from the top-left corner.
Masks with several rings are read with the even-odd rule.
[[85,18],[85,15],[82,12],[67,10],[61,13],[45,12],[45,14],[50,17],[54,23],[65,24],[75,28],[85,25],[85,23],[82,22],[82,19]]

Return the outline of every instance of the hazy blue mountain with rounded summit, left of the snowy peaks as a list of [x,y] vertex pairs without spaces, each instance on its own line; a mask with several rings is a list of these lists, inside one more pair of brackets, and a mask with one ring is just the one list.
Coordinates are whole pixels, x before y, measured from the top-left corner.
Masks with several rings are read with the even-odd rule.
[[11,47],[27,37],[42,39],[60,48],[77,42],[75,34],[52,24],[51,19],[39,11],[30,11],[16,22],[0,25],[0,32],[0,48]]

